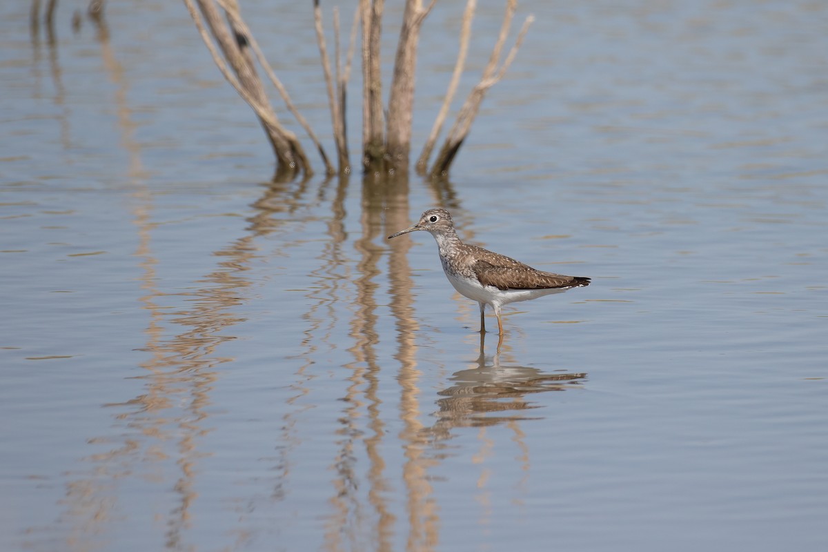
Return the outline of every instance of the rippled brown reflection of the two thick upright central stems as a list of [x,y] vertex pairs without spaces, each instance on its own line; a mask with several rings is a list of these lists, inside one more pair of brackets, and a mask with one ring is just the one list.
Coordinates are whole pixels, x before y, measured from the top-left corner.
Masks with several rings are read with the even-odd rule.
[[[392,550],[392,537],[397,517],[388,505],[391,486],[386,474],[386,458],[383,457],[383,439],[387,434],[388,412],[383,411],[379,391],[383,382],[397,377],[401,387],[399,416],[403,422],[400,437],[405,450],[402,478],[407,496],[407,550],[432,550],[437,542],[436,506],[431,497],[427,468],[430,465],[423,453],[426,441],[422,435],[419,406],[420,372],[416,368],[416,343],[413,333],[416,321],[412,317],[410,293],[410,268],[407,266],[407,249],[410,244],[392,250],[388,268],[381,266],[388,250],[383,237],[408,217],[408,180],[405,177],[379,177],[367,175],[363,179],[362,211],[359,222],[361,238],[354,242],[359,254],[354,278],[354,313],[350,321],[349,338],[353,345],[349,353],[353,361],[345,365],[351,372],[349,386],[343,397],[344,407],[339,423],[339,452],[333,467],[335,478],[330,497],[332,512],[325,526],[325,549],[352,549],[360,535],[371,535],[372,549]],[[334,209],[337,212],[337,208]],[[382,372],[378,359],[377,344],[379,324],[377,313],[378,276],[388,273],[391,280],[390,308],[395,315],[397,339],[400,346],[396,356],[398,372]],[[368,420],[365,420],[367,415]],[[367,431],[366,431],[367,430]],[[361,498],[357,478],[358,458],[355,447],[359,441],[368,457],[367,497],[372,516],[360,511]],[[366,526],[366,524],[370,524]]]

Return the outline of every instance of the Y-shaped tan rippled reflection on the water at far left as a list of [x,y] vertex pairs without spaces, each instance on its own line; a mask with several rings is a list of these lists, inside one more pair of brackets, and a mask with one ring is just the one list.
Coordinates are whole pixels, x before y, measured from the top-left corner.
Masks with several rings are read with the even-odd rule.
[[[123,513],[113,516],[124,499],[118,487],[137,479],[142,485],[166,487],[165,495],[172,498],[166,513],[156,514],[155,526],[163,532],[160,536],[165,548],[181,550],[195,546],[186,541],[185,531],[199,495],[198,466],[210,454],[200,448],[200,442],[214,429],[209,425],[209,406],[219,365],[232,360],[222,357],[219,347],[235,338],[226,332],[243,320],[233,309],[247,300],[247,288],[253,285],[245,273],[258,257],[255,240],[272,232],[277,224],[272,221],[272,211],[259,209],[248,218],[248,233],[213,253],[219,262],[193,282],[193,289],[163,289],[157,270],[160,261],[153,248],[155,195],[142,180],[142,149],[133,137],[136,125],[127,101],[128,80],[109,44],[103,17],[94,18],[94,23],[103,66],[116,86],[113,103],[121,146],[129,156],[132,223],[138,237],[134,255],[142,290],[139,301],[149,316],[142,350],[149,358],[139,365],[144,373],[137,376],[144,382],[143,392],[127,401],[104,405],[118,410],[116,427],[123,433],[88,439],[90,446],[104,447],[103,451],[84,458],[89,470],[69,474],[62,501],[65,514],[61,516],[61,521],[71,524],[65,548],[111,548],[103,535],[124,521]],[[296,204],[297,194],[303,193],[301,185],[298,190],[267,188],[261,200]],[[123,508],[128,510],[126,505]]]

